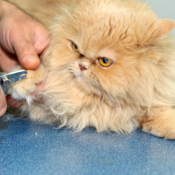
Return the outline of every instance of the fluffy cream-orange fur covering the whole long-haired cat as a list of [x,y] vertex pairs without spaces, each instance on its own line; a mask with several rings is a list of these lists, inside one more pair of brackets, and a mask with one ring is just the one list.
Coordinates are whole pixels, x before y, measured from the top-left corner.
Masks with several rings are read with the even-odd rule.
[[[43,65],[8,91],[26,99],[22,110],[30,119],[77,130],[142,127],[175,139],[174,21],[157,19],[137,0],[10,1],[51,33]],[[103,67],[99,57],[114,63]]]

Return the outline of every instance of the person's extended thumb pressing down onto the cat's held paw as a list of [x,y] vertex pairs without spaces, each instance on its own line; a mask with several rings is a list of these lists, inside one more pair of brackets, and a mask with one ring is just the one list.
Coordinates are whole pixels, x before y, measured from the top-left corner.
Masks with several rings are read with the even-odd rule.
[[13,47],[18,61],[24,69],[37,69],[39,67],[40,60],[30,39],[18,35],[17,38],[13,39]]

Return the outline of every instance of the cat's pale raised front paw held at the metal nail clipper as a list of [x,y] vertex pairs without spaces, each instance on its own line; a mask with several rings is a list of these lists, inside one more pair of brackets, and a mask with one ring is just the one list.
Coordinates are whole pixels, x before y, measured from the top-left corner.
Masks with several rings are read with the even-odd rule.
[[43,66],[36,70],[28,70],[26,79],[11,84],[7,89],[7,94],[17,100],[26,100],[30,104],[33,94],[37,90],[37,86],[43,82],[43,78]]

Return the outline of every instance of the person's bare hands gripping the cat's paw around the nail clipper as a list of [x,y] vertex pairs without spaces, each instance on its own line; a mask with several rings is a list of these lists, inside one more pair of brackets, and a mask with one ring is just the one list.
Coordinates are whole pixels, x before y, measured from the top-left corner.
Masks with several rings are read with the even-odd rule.
[[[14,5],[0,1],[0,68],[11,71],[20,64],[24,69],[36,69],[41,55],[50,43],[47,29]],[[20,103],[7,97],[13,107]],[[0,88],[0,116],[7,109],[5,95]]]

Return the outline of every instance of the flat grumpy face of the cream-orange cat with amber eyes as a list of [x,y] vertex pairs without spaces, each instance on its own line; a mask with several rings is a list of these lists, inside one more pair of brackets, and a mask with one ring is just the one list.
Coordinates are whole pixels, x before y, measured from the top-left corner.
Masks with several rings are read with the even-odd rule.
[[126,96],[151,85],[161,23],[145,5],[138,6],[82,2],[53,27],[50,70],[64,67],[86,93]]

